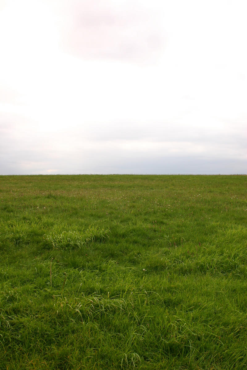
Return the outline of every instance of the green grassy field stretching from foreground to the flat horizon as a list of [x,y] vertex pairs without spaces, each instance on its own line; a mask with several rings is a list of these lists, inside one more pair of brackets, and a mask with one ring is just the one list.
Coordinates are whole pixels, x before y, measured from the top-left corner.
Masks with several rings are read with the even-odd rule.
[[247,369],[247,176],[0,176],[0,369]]

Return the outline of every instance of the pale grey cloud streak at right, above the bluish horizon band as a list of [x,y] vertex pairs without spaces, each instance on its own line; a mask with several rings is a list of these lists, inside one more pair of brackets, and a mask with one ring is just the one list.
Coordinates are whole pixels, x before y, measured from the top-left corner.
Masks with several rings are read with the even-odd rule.
[[[82,123],[68,132],[67,137],[77,141],[76,138],[86,138],[89,141],[136,141],[149,142],[191,142],[193,144],[228,145],[236,149],[246,149],[246,137],[243,136],[243,124],[238,126],[238,120],[226,122],[221,129],[208,127],[189,127],[186,124],[176,124],[175,119],[136,122],[90,122]],[[234,130],[232,130],[234,128]]]

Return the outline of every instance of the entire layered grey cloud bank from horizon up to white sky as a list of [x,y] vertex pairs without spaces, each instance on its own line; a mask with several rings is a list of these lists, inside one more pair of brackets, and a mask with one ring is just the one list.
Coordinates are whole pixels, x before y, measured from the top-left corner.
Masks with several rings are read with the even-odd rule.
[[[0,174],[240,174],[245,173],[247,168],[244,155],[246,144],[236,133],[231,137],[214,137],[208,132],[207,138],[205,135],[193,138],[188,132],[183,138],[176,135],[173,128],[170,133],[166,132],[167,141],[160,142],[161,138],[156,135],[157,141],[149,138],[153,146],[146,148],[138,133],[135,140],[133,132],[128,131],[126,126],[122,131],[126,139],[119,136],[109,138],[108,135],[108,139],[94,138],[93,141],[78,132],[76,134],[76,131],[62,132],[61,136],[59,132],[52,133],[49,140],[46,132],[29,136],[28,127],[21,125],[19,130],[16,124],[10,122],[1,125]],[[146,135],[145,127],[143,131]],[[98,135],[99,130],[95,131]],[[57,147],[58,142],[60,147]],[[143,148],[136,147],[142,142]],[[184,145],[192,151],[204,145],[206,150],[189,153],[183,149]],[[172,151],[173,146],[175,151]],[[66,147],[69,147],[67,151]]]

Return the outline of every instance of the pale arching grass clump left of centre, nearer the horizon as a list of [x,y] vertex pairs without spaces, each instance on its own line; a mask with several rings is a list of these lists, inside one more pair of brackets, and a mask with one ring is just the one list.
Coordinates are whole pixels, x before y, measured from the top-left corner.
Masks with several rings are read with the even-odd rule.
[[90,242],[102,242],[107,238],[108,232],[108,229],[100,229],[90,226],[90,228],[81,232],[64,230],[62,232],[53,232],[49,235],[44,235],[44,238],[53,246],[54,249],[80,249]]

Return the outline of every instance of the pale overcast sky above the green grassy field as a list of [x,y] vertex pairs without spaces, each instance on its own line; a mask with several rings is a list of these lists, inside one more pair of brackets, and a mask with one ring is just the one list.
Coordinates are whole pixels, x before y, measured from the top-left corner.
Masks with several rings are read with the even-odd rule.
[[0,174],[246,174],[246,0],[0,0]]

